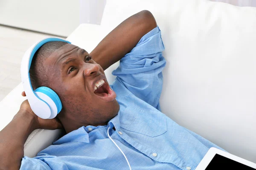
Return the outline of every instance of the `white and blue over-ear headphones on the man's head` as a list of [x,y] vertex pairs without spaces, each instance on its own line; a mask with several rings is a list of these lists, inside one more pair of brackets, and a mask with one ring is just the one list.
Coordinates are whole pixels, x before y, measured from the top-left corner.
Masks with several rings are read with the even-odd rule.
[[32,111],[42,119],[55,118],[62,109],[61,100],[58,94],[48,87],[39,87],[34,91],[30,81],[29,69],[36,51],[45,43],[52,41],[62,41],[71,44],[71,42],[57,37],[49,37],[40,40],[25,52],[20,67],[21,81],[29,101],[29,105]]

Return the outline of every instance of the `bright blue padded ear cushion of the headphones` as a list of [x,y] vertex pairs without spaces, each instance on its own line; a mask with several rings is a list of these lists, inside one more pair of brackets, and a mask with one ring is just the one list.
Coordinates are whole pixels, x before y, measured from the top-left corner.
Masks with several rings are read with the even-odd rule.
[[[35,89],[34,92],[41,92],[41,93],[49,96],[52,99],[52,101],[55,103],[58,113],[60,113],[60,111],[62,109],[61,99],[59,98],[58,94],[55,93],[55,91],[53,91],[52,89],[50,89],[48,87],[42,86],[42,87]],[[44,101],[44,102],[46,102],[46,101]],[[49,105],[49,103],[47,103],[47,104]]]

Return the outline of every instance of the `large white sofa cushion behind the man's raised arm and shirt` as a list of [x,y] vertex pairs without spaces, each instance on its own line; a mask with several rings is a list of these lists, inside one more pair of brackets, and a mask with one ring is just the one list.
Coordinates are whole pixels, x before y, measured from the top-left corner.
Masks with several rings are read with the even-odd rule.
[[207,0],[108,0],[105,34],[147,9],[166,47],[160,106],[179,125],[256,162],[256,8]]

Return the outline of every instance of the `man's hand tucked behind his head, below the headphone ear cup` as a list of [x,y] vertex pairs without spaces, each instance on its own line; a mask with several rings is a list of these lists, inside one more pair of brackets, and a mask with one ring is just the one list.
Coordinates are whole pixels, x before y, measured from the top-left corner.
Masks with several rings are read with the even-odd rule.
[[[26,96],[25,92],[23,91],[22,96]],[[50,129],[50,130],[54,130],[54,129],[61,129],[63,128],[61,125],[61,122],[58,120],[58,118],[54,118],[54,119],[42,119],[40,117],[38,117],[31,109],[28,100],[25,100],[24,102],[22,102],[22,104],[20,105],[20,111],[23,114],[26,114],[27,116],[33,116],[33,119],[35,120],[36,123],[36,127],[37,128],[41,128],[41,129]],[[17,113],[18,114],[18,113]],[[15,115],[16,116],[16,115]]]

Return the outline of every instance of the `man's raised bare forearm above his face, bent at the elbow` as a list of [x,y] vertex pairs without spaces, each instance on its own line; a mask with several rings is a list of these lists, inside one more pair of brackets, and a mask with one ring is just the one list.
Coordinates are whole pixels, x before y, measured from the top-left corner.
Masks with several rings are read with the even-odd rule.
[[90,55],[105,70],[131,51],[141,37],[155,27],[157,23],[151,12],[140,11],[113,29]]

